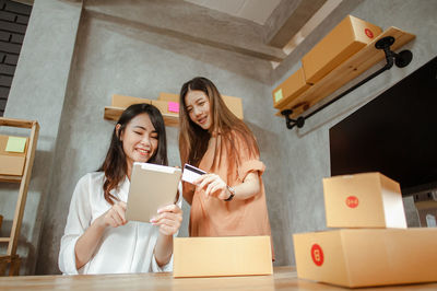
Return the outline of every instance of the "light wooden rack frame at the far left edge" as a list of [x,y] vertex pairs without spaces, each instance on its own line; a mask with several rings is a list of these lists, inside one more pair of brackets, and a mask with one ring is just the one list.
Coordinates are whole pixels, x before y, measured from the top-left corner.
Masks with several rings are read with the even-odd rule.
[[0,117],[0,126],[19,127],[31,129],[26,162],[22,176],[0,175],[0,182],[20,183],[19,197],[15,205],[14,218],[12,221],[11,234],[9,237],[0,237],[0,243],[8,243],[5,255],[0,255],[0,276],[3,276],[7,265],[10,265],[9,276],[19,275],[21,258],[16,255],[20,230],[23,221],[24,207],[26,205],[28,184],[31,181],[32,167],[35,159],[36,142],[38,139],[39,125],[37,121],[12,119]]

